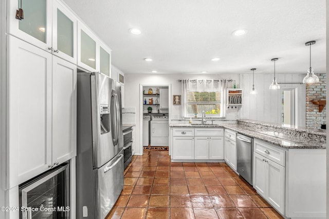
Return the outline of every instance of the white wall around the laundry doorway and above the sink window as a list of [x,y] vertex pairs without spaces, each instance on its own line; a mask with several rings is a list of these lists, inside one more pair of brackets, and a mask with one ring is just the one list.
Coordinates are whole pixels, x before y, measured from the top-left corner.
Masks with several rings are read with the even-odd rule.
[[[140,140],[141,130],[141,112],[140,105],[142,100],[140,99],[140,84],[142,85],[171,85],[169,91],[170,96],[170,120],[174,118],[181,118],[182,111],[181,106],[172,105],[172,95],[181,95],[181,84],[177,82],[178,79],[218,79],[218,78],[231,78],[239,83],[238,74],[125,74],[125,106],[136,107],[136,154],[142,154],[142,144]],[[139,148],[139,151],[138,151]]]

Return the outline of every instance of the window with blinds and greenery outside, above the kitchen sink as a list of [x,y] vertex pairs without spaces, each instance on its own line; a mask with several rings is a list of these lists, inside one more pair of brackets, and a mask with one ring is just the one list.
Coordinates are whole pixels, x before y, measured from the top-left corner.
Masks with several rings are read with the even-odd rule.
[[187,116],[206,114],[221,116],[221,92],[187,91]]

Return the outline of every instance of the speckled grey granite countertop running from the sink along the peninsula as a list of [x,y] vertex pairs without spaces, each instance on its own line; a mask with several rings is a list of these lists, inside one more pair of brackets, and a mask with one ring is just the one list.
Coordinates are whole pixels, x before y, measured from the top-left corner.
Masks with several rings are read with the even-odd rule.
[[227,128],[241,134],[248,135],[250,137],[258,138],[264,142],[280,146],[287,149],[325,149],[325,143],[317,140],[312,140],[307,137],[301,136],[288,136],[284,133],[273,131],[262,131],[259,129],[253,129],[239,124],[170,124],[170,127],[188,127],[188,128]]

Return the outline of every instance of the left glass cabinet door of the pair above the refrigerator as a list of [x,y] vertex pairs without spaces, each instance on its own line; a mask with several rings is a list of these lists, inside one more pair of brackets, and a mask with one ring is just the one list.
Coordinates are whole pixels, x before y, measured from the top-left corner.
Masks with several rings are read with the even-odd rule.
[[80,31],[80,61],[96,69],[96,42],[82,29]]

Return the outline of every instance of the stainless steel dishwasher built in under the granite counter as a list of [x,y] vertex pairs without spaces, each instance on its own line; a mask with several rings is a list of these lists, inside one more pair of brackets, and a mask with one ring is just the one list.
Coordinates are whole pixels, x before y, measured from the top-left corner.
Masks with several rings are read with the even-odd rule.
[[252,185],[253,138],[237,133],[236,150],[236,170],[250,185]]

